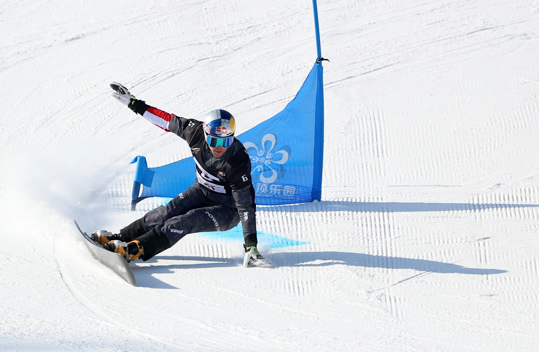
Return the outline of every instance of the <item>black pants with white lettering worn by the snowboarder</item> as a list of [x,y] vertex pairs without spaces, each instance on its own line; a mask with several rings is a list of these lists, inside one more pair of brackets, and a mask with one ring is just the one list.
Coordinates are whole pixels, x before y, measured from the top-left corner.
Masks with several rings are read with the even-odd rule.
[[185,192],[146,213],[120,230],[122,241],[137,240],[144,249],[144,261],[172,247],[185,235],[226,231],[239,223],[238,210],[208,198],[198,182]]

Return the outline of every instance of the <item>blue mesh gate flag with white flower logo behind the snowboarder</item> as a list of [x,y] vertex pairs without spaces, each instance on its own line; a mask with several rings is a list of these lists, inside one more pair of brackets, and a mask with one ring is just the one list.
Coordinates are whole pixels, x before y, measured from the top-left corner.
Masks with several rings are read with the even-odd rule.
[[[237,136],[251,157],[251,177],[258,205],[320,201],[324,136],[322,60],[316,60],[295,98],[277,115]],[[194,184],[195,161],[148,168],[138,156],[132,210],[141,200],[174,198]],[[140,193],[140,187],[142,193]]]

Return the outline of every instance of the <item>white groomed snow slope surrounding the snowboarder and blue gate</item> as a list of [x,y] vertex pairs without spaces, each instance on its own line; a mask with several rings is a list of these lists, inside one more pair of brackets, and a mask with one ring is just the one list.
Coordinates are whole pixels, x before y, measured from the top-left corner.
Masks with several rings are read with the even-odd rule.
[[[322,201],[260,207],[271,269],[186,236],[140,287],[77,237],[118,231],[137,155],[183,140],[110,97],[239,132],[316,58],[310,0],[0,3],[0,350],[536,351],[539,2],[320,0]],[[294,126],[301,132],[301,126]]]

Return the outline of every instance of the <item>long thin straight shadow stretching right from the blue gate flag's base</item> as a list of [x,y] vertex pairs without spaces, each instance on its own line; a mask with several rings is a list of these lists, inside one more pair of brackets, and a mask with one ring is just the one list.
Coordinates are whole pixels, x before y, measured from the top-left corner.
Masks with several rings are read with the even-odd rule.
[[320,201],[296,205],[264,206],[259,211],[268,212],[446,212],[451,210],[486,210],[498,208],[531,208],[537,204],[471,204],[471,203],[401,203],[401,202],[350,202]]

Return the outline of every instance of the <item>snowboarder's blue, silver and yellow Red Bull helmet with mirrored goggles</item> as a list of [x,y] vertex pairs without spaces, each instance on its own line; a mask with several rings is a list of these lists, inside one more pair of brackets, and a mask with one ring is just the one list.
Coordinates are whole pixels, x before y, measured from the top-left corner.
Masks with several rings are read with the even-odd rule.
[[209,146],[215,148],[220,145],[226,148],[234,141],[236,121],[234,121],[234,116],[226,110],[212,110],[204,116],[202,128]]

